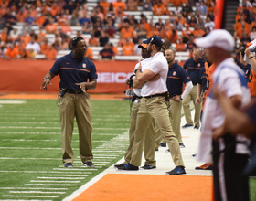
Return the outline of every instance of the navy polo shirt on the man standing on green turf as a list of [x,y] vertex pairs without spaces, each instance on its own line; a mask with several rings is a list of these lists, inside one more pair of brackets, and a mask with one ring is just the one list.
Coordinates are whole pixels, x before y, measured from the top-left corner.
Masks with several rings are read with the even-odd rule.
[[80,86],[75,83],[98,78],[94,63],[86,57],[75,58],[73,52],[58,58],[49,71],[54,75],[59,74],[59,88],[68,90],[80,90]]

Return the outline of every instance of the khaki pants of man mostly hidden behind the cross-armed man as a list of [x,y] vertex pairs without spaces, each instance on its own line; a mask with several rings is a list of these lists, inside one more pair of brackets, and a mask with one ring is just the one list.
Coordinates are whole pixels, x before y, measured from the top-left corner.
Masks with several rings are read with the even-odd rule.
[[[131,112],[131,124],[129,129],[129,147],[124,155],[124,164],[128,164],[131,161],[132,153],[133,153],[133,143],[134,143],[134,132],[136,129],[136,120],[137,120],[137,113],[139,111],[141,103],[133,103],[133,108]],[[152,119],[149,127],[146,130],[147,135],[144,139],[144,158],[145,163],[152,166],[155,166],[155,146],[152,143],[155,143],[155,122]]]

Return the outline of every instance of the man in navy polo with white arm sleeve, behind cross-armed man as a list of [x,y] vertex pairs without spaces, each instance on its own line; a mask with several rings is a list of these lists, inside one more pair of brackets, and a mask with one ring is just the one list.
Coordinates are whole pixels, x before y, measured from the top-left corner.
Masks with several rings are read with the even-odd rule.
[[[192,90],[193,84],[186,70],[176,63],[176,51],[173,48],[165,50],[165,58],[169,66],[166,85],[170,96],[170,106],[168,108],[170,120],[179,146],[185,147],[180,133],[181,106],[182,100]],[[182,92],[183,83],[186,84],[186,87]]]

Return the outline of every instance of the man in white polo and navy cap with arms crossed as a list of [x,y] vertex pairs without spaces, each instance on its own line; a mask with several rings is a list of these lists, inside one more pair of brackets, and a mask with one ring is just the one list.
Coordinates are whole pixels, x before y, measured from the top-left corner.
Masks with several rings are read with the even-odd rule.
[[[145,128],[147,128],[151,120],[154,119],[160,131],[165,136],[173,161],[176,165],[175,169],[166,172],[165,175],[186,174],[179,144],[172,130],[167,109],[166,101],[168,101],[168,90],[166,87],[166,79],[168,64],[164,54],[160,51],[163,42],[161,37],[153,36],[145,40],[144,44],[147,44],[147,52],[150,53],[151,58],[149,58],[150,62],[135,69],[136,77],[133,87],[137,87],[136,81],[138,85],[143,83],[141,91],[143,98],[141,99],[141,105],[137,113],[131,162],[125,164],[123,170],[138,170],[138,166],[141,164],[142,160],[144,138],[146,135]],[[152,79],[157,74],[160,75],[160,79],[149,81],[149,79]],[[152,146],[155,147],[155,142],[152,143]]]

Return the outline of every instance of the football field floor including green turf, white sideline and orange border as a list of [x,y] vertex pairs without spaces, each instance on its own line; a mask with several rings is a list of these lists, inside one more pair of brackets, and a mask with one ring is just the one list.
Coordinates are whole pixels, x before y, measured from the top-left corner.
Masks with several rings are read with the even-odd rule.
[[[195,199],[193,195],[206,192],[206,196],[211,197],[209,187],[204,189],[193,186],[200,180],[204,184],[204,179],[208,182],[205,186],[211,185],[211,178],[207,177],[210,175],[208,171],[207,176],[202,176],[204,171],[197,172],[194,169],[195,159],[191,157],[191,150],[195,153],[197,143],[192,143],[191,139],[199,133],[193,129],[183,131],[187,146],[182,153],[187,164],[187,175],[181,175],[182,179],[178,179],[179,176],[165,176],[165,171],[170,170],[166,169],[166,166],[170,168],[173,164],[169,153],[165,153],[163,147],[155,153],[158,163],[155,172],[140,170],[133,173],[133,177],[127,175],[130,173],[116,171],[112,167],[112,164],[122,162],[123,154],[129,145],[130,103],[130,100],[92,99],[93,163],[96,167],[88,168],[80,162],[79,135],[75,123],[72,148],[76,159],[73,168],[64,168],[61,161],[57,100],[0,99],[0,201],[59,201],[73,192],[80,192],[81,195],[75,200],[130,200],[134,196],[138,200],[172,200],[168,197],[169,185],[172,185],[173,197],[187,197],[180,197],[181,200],[192,201]],[[99,178],[99,175],[102,175],[102,178]],[[195,181],[194,176],[197,175],[198,181]],[[126,181],[125,184],[123,181]],[[133,185],[134,181],[139,185]],[[144,186],[144,183],[150,183],[151,186]],[[91,187],[84,187],[87,184]],[[177,187],[179,185],[181,187]],[[193,186],[193,191],[190,186]],[[128,188],[130,191],[127,191]],[[201,191],[198,192],[198,189]],[[159,193],[161,190],[163,192]],[[151,199],[144,196],[145,191],[148,191]],[[255,201],[255,194],[256,181],[251,178],[251,201]],[[72,200],[75,196],[70,197],[72,198],[65,200]],[[208,200],[210,199],[204,201]]]

